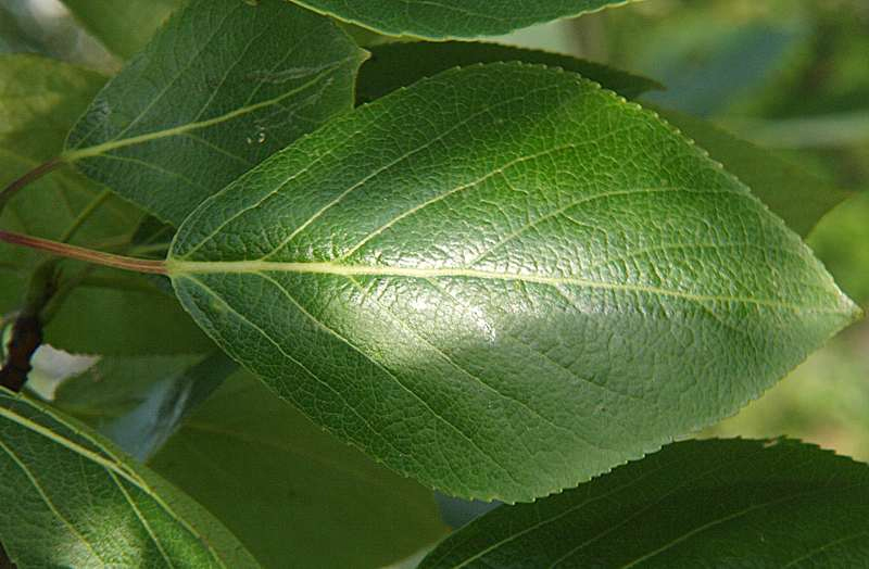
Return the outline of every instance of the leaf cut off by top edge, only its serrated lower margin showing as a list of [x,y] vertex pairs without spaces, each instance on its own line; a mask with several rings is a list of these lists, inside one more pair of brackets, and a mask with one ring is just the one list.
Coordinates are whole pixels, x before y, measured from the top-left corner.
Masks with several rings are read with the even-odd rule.
[[532,24],[577,16],[626,3],[626,0],[291,1],[315,12],[388,36],[416,36],[426,39],[498,36]]

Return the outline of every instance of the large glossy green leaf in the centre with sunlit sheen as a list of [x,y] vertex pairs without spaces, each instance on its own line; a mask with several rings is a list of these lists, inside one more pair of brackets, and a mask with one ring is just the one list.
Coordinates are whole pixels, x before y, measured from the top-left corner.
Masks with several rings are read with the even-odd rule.
[[859,312],[654,114],[522,64],[332,121],[199,207],[167,268],[315,421],[505,501],[732,414]]

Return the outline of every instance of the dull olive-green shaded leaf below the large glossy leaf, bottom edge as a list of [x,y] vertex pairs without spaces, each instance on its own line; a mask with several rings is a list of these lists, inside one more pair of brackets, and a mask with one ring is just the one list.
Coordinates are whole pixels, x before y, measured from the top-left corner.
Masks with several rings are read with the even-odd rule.
[[288,552],[294,567],[381,567],[444,534],[430,491],[324,433],[250,375],[230,378],[151,467],[264,567],[287,567]]

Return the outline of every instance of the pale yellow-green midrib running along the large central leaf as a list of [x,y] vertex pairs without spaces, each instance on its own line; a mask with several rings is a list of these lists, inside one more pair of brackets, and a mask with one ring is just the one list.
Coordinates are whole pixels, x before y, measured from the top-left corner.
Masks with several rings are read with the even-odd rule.
[[596,281],[576,277],[556,277],[533,274],[508,274],[493,270],[471,268],[418,268],[394,266],[349,265],[329,262],[275,262],[275,261],[177,261],[168,258],[166,268],[173,278],[184,278],[187,275],[257,275],[263,273],[294,273],[299,275],[333,275],[339,277],[399,277],[414,279],[437,278],[471,278],[481,280],[522,281],[551,287],[575,286],[588,289],[601,289],[622,292],[641,292],[660,296],[684,299],[696,303],[706,302],[738,302],[754,304],[783,311],[816,314],[848,314],[847,306],[827,308],[822,306],[801,306],[771,299],[754,299],[751,296],[726,296],[717,294],[697,294],[679,290],[650,287],[644,284],[628,284],[620,282]]

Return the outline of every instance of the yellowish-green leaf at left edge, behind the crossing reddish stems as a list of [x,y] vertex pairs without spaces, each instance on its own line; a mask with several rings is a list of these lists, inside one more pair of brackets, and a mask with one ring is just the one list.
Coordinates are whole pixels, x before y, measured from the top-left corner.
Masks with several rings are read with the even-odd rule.
[[[61,151],[70,126],[104,81],[93,72],[38,55],[0,55],[0,187]],[[93,185],[72,169],[54,170],[7,204],[0,226],[58,239],[98,195]],[[123,241],[139,217],[135,207],[111,199],[74,242]],[[30,270],[41,258],[0,243],[0,314],[20,307]]]

